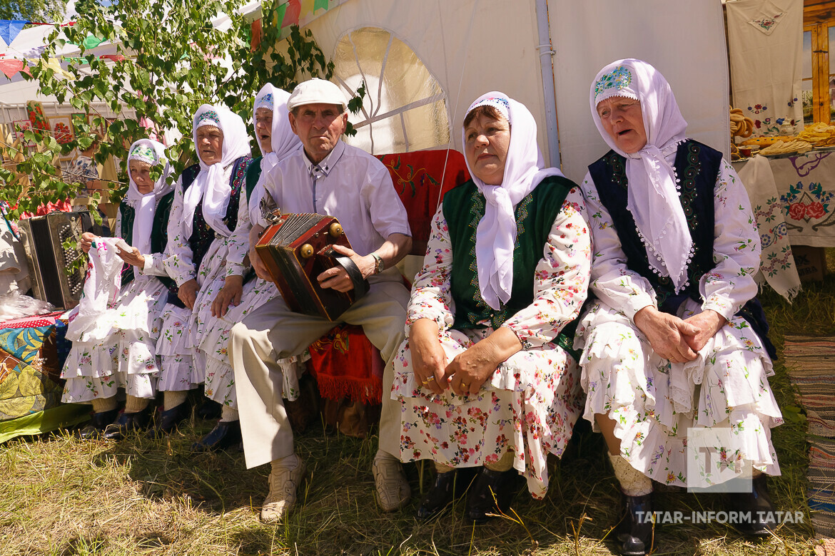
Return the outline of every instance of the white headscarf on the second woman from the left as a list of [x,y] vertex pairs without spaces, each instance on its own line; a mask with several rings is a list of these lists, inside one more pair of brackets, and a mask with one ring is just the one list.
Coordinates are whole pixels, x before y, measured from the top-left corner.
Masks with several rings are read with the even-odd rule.
[[223,223],[226,216],[226,208],[229,206],[229,195],[232,188],[229,178],[225,177],[225,168],[234,163],[238,158],[249,154],[250,142],[246,135],[246,124],[236,113],[229,108],[217,104],[203,104],[197,108],[195,113],[194,128],[192,128],[192,139],[195,148],[197,144],[197,128],[205,125],[215,126],[223,132],[223,144],[220,151],[220,162],[209,166],[200,159],[200,173],[197,174],[194,183],[185,192],[184,218],[185,237],[188,238],[192,232],[195,221],[195,209],[200,198],[203,198],[203,218],[215,232],[228,238],[231,235],[229,228]]

